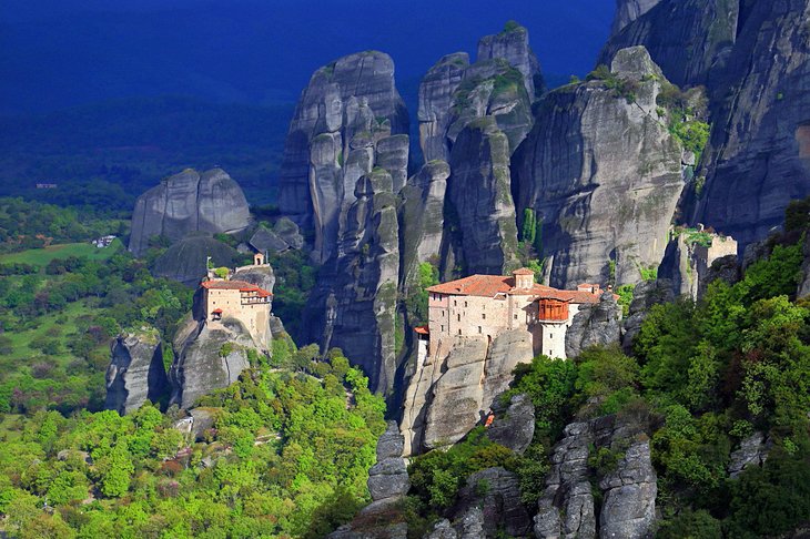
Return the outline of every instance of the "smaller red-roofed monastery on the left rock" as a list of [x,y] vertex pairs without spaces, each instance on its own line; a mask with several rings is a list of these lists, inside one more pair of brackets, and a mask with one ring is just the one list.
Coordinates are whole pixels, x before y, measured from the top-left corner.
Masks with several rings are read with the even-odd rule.
[[[265,266],[264,255],[257,253],[253,257],[253,266]],[[225,318],[233,318],[242,323],[251,333],[253,340],[262,344],[266,349],[265,333],[270,324],[271,302],[273,294],[245,281],[216,277],[213,271],[200,283],[203,289],[203,301],[206,324],[220,324]]]

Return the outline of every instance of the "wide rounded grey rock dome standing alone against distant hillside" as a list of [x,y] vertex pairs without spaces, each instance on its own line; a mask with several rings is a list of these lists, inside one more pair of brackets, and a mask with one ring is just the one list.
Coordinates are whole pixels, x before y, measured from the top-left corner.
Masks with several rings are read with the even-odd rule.
[[234,233],[249,224],[244,193],[225,171],[186,169],[138,197],[129,248],[140,256],[152,236],[176,242],[191,232]]

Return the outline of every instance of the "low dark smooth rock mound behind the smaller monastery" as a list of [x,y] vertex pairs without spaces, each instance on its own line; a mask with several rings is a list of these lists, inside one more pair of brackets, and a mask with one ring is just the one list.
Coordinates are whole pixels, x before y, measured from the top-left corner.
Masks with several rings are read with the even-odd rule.
[[207,257],[216,267],[231,267],[239,258],[233,247],[207,235],[184,237],[154,261],[152,273],[188,286],[196,286],[207,272]]

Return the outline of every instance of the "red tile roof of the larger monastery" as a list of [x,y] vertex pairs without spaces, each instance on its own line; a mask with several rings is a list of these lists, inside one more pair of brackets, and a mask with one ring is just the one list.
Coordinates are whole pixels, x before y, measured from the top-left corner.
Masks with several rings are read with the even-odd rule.
[[538,298],[557,299],[571,303],[597,303],[599,296],[584,291],[560,291],[535,284],[528,289],[516,289],[515,278],[504,275],[470,275],[469,277],[450,281],[449,283],[431,286],[427,292],[448,294],[453,296],[495,297],[497,294],[519,294],[522,296],[537,296]]

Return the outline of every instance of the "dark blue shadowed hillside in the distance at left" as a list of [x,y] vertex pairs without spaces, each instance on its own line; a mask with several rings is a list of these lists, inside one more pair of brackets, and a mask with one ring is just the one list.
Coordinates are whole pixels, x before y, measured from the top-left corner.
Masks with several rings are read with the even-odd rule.
[[129,211],[161,177],[219,165],[269,203],[292,112],[160,96],[0,116],[0,195]]

